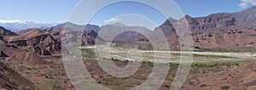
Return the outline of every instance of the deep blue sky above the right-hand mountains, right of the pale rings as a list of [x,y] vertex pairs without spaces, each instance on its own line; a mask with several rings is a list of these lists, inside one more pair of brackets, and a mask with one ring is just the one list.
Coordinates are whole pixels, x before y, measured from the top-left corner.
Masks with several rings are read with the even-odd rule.
[[[193,17],[206,16],[214,13],[232,13],[245,8],[239,7],[241,0],[174,0],[184,14]],[[246,1],[246,0],[245,0]],[[250,1],[250,0],[247,0]],[[256,0],[251,0],[255,1]],[[247,8],[252,4],[248,4]]]

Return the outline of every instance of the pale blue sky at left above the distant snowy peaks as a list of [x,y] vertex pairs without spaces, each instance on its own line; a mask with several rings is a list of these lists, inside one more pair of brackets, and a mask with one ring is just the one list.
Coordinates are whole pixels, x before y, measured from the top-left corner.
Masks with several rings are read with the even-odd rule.
[[0,20],[61,23],[79,0],[2,0]]

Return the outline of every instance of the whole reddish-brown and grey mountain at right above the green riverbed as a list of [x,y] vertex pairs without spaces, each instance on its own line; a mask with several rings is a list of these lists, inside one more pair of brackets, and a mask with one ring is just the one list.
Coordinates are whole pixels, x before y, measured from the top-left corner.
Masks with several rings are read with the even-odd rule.
[[[192,31],[193,48],[256,48],[256,42],[254,41],[256,32],[255,11],[256,7],[252,7],[237,13],[210,14],[205,17],[193,18],[186,15],[183,19],[188,21],[189,28]],[[170,18],[159,28],[165,34],[170,48],[179,49],[176,29],[171,21],[177,23],[180,20]],[[154,30],[152,36],[156,31],[159,30]],[[146,46],[150,44],[143,41],[147,41],[147,39],[143,37],[138,40],[137,44],[140,44],[141,47],[136,47],[138,45],[132,46],[132,44],[131,47],[143,48],[143,43],[147,43]],[[125,44],[119,46],[125,46]]]

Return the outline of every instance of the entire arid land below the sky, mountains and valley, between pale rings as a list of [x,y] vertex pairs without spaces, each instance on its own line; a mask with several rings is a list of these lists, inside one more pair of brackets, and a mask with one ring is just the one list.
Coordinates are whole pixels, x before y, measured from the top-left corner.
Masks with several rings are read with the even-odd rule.
[[[256,90],[256,7],[237,13],[210,14],[205,17],[187,20],[192,33],[194,52],[189,76],[180,88],[182,90]],[[170,18],[154,31],[142,26],[129,25],[76,25],[71,22],[49,28],[32,28],[10,31],[0,27],[0,89],[3,90],[73,90],[63,65],[64,53],[80,55],[90,76],[104,87],[129,89],[137,87],[152,72],[155,57],[161,58],[170,69],[160,90],[170,89],[178,68],[180,43],[173,23],[180,20]],[[150,41],[140,33],[126,31],[115,37],[112,46],[112,60],[115,65],[125,67],[131,59],[125,57],[130,49],[140,50],[143,61],[137,72],[127,77],[109,75],[98,65],[95,47],[96,40],[110,41],[97,37],[99,31],[108,29],[106,35],[118,31],[143,31],[154,36],[162,31],[172,51],[154,51]],[[80,35],[80,36],[79,36]],[[79,38],[80,37],[80,38]],[[108,36],[106,36],[108,37]],[[72,40],[78,40],[73,42]],[[161,42],[161,40],[158,40]],[[68,51],[63,42],[77,51]],[[108,43],[107,43],[108,44]],[[102,49],[102,52],[107,52]],[[168,53],[171,59],[154,53]],[[81,54],[80,54],[81,53]],[[134,57],[140,54],[135,54]],[[75,57],[76,58],[76,57]],[[158,63],[158,62],[156,62]],[[159,64],[161,66],[161,63]]]

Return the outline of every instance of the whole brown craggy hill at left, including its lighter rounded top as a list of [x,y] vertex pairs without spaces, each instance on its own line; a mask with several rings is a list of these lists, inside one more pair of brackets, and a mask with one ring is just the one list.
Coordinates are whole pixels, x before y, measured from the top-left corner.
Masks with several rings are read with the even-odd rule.
[[39,55],[61,54],[61,43],[40,29],[20,31],[19,36],[6,37],[5,40],[16,48],[32,51]]

